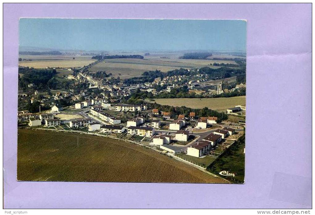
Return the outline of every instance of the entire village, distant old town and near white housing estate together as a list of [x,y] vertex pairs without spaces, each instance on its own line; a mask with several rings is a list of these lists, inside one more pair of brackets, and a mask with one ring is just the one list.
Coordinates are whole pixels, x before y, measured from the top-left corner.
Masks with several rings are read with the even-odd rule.
[[[231,123],[211,115],[196,115],[193,111],[176,115],[171,111],[150,109],[150,103],[145,102],[123,103],[136,91],[154,96],[185,88],[190,95],[204,97],[245,89],[246,84],[235,83],[236,77],[216,80],[200,74],[196,68],[185,71],[194,75],[157,77],[152,82],[128,85],[119,79],[103,78],[102,72],[89,73],[86,70],[89,66],[79,70],[62,68],[72,73],[63,77],[72,84],[67,91],[50,90],[54,94],[45,95],[32,83],[26,90],[19,91],[18,126],[129,141],[202,169],[244,134],[245,120]],[[60,68],[46,69],[60,71]],[[27,101],[35,108],[38,105],[39,112],[23,109]],[[225,113],[240,115],[245,111],[245,106],[237,105],[226,109]]]

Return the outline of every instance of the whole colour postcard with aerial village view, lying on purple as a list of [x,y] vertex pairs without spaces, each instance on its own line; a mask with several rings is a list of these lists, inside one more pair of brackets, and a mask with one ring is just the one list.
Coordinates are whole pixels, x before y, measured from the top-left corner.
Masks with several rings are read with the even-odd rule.
[[244,183],[246,20],[19,22],[17,180]]

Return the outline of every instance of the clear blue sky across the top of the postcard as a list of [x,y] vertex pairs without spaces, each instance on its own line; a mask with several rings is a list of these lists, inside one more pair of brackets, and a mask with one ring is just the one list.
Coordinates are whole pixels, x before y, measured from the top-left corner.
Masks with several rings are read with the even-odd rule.
[[19,37],[51,49],[246,51],[246,21],[24,18]]

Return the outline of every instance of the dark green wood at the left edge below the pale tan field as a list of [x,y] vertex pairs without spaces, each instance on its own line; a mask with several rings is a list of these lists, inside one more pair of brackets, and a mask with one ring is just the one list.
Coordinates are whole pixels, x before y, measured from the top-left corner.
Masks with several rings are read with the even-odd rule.
[[56,74],[55,69],[34,69],[29,67],[19,67],[19,87],[26,88],[28,84],[35,84],[37,88],[45,88],[48,81]]

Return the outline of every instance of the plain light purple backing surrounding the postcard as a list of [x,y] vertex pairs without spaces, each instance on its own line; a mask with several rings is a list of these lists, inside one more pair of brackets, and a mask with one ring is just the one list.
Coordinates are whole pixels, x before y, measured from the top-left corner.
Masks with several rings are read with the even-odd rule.
[[[245,184],[17,182],[20,17],[246,19]],[[4,4],[5,208],[310,208],[311,23],[311,4]],[[277,196],[278,178],[294,189]]]

